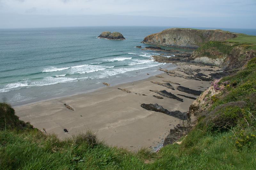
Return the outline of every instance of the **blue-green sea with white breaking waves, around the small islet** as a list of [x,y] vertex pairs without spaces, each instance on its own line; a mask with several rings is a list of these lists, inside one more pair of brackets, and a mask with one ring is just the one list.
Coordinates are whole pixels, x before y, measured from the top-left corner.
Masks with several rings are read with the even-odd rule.
[[[103,82],[113,86],[159,74],[159,67],[172,69],[171,63],[153,60],[161,52],[136,48],[148,46],[140,43],[147,35],[167,28],[0,29],[0,102],[15,106],[88,93]],[[256,35],[256,29],[224,30]],[[103,31],[120,32],[126,40],[97,38]]]

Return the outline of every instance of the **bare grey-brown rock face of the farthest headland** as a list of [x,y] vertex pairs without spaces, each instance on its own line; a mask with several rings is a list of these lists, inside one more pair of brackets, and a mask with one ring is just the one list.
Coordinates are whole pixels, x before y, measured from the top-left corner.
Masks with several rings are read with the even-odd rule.
[[225,41],[230,38],[235,38],[236,36],[235,33],[223,30],[170,28],[160,33],[148,35],[144,38],[142,43],[196,49],[201,43],[208,41]]

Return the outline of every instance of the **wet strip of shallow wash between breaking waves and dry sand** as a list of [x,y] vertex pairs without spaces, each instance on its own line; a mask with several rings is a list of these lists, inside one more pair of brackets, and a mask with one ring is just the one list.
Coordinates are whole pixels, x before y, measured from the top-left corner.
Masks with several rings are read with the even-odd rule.
[[[63,97],[70,97],[70,96],[79,95],[79,94],[91,93],[95,90],[104,88],[105,85],[102,84],[103,82],[108,82],[110,84],[110,86],[116,86],[116,85],[119,85],[119,84],[144,80],[144,79],[147,79],[148,77],[160,74],[161,73],[161,71],[159,71],[160,67],[164,68],[164,69],[175,69],[176,68],[176,66],[172,63],[165,63],[163,65],[158,65],[158,66],[148,67],[148,68],[139,69],[139,70],[135,70],[135,71],[130,71],[130,72],[132,72],[132,74],[134,74],[135,72],[139,73],[139,74],[137,74],[137,76],[131,76],[131,77],[128,77],[128,78],[124,77],[123,79],[117,79],[117,80],[111,79],[110,81],[108,79],[92,79],[93,81],[100,81],[100,82],[85,85],[85,86],[84,86],[84,81],[73,81],[73,82],[57,83],[57,84],[46,85],[46,86],[35,86],[35,87],[11,90],[11,91],[2,93],[2,95],[4,97],[14,96],[17,93],[23,95],[23,94],[27,94],[31,90],[36,91],[39,88],[41,89],[41,91],[48,91],[49,88],[50,89],[54,89],[54,88],[56,89],[57,86],[61,89],[64,89],[63,90],[64,92],[61,91],[61,94],[56,93],[56,94],[53,94],[52,96],[41,97],[40,94],[38,94],[40,97],[38,97],[36,99],[32,98],[32,99],[28,99],[28,100],[24,100],[24,101],[20,101],[20,102],[7,101],[13,107],[17,107],[17,106],[22,106],[22,105],[25,105],[25,104],[33,104],[33,103],[42,102],[42,101],[46,101],[46,100],[52,100],[52,99],[58,99],[58,98],[63,98]],[[126,72],[126,73],[129,73],[129,72]],[[150,74],[147,74],[147,73],[150,73]],[[121,73],[121,74],[123,74],[123,73]],[[114,75],[113,77],[115,77],[115,76],[117,76],[117,75]],[[76,89],[76,90],[73,90],[73,91],[69,91],[69,89],[65,89],[65,87],[73,86],[73,85],[76,85],[76,87],[78,87],[79,89]]]

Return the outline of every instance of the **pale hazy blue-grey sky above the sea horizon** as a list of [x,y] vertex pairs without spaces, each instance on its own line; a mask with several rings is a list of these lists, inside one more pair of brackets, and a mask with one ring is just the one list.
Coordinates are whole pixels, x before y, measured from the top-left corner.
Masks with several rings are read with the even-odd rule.
[[256,28],[256,0],[0,0],[0,28]]

